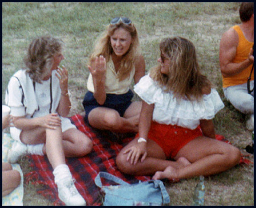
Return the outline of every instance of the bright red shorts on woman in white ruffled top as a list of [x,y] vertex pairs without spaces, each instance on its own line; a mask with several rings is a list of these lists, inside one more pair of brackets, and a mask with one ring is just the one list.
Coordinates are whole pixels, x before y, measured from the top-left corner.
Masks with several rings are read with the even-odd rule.
[[[136,136],[139,136],[139,134]],[[151,123],[151,128],[148,132],[148,139],[155,141],[164,151],[166,158],[171,159],[177,155],[182,147],[198,136],[202,136],[199,126],[194,130],[190,130],[189,128],[156,122]]]

